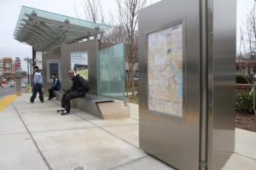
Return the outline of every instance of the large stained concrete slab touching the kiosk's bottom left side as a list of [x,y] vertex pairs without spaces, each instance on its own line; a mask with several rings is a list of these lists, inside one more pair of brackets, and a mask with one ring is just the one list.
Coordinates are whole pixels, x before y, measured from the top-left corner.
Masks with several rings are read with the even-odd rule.
[[97,127],[32,135],[53,169],[107,170],[146,156]]

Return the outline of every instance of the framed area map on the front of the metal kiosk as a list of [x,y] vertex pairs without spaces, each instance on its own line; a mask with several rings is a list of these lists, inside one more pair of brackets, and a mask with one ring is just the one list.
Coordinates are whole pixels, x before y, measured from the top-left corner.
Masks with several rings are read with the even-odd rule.
[[183,116],[183,25],[148,34],[148,110]]

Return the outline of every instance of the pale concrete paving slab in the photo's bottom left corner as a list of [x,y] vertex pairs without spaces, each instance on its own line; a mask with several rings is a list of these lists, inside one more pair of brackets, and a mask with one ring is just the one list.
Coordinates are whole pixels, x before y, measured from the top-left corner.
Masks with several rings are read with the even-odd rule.
[[42,157],[26,134],[0,136],[0,169],[46,170]]

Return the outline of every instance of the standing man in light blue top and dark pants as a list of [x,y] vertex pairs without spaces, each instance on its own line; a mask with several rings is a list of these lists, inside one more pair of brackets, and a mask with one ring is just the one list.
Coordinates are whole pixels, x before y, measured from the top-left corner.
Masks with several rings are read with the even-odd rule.
[[44,102],[44,93],[43,93],[43,80],[41,72],[39,72],[39,68],[37,65],[33,67],[34,71],[34,82],[33,82],[33,88],[32,88],[32,96],[30,98],[30,103],[34,103],[34,100],[37,97],[37,94],[39,94],[39,99],[43,103]]

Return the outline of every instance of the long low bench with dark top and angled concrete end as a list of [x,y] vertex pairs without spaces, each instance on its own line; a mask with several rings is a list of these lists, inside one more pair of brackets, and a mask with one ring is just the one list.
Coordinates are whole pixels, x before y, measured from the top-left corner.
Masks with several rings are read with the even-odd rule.
[[[55,95],[56,99],[62,99],[61,92],[55,92]],[[130,117],[130,108],[124,105],[123,101],[96,94],[86,94],[83,98],[72,99],[71,106],[102,119]]]

